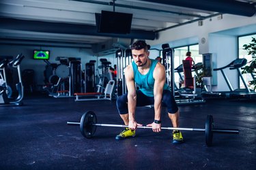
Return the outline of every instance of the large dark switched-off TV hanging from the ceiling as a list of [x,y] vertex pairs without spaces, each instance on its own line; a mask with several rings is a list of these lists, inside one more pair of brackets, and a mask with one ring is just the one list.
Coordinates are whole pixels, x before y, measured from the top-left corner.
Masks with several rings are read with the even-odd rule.
[[132,14],[102,11],[96,13],[98,33],[128,34],[132,25]]

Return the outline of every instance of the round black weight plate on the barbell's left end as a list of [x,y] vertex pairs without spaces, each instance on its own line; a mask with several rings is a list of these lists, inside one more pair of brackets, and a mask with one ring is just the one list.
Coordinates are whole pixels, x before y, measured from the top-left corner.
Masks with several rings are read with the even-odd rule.
[[85,112],[85,114],[83,114],[80,120],[80,131],[82,135],[87,139],[91,138],[96,131],[96,126],[92,124],[96,123],[96,114],[94,114],[94,112],[92,111]]

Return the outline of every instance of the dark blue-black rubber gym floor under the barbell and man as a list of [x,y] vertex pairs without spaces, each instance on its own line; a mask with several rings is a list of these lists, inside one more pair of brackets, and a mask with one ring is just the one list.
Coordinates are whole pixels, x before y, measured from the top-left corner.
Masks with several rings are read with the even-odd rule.
[[[97,127],[86,139],[79,122],[92,110],[98,123],[122,124],[115,101],[25,97],[24,105],[0,106],[0,169],[255,169],[255,101],[209,99],[202,105],[180,105],[180,127],[205,128],[208,114],[214,127],[239,129],[239,135],[214,134],[213,146],[204,132],[182,131],[185,142],[171,143],[171,131],[138,129],[137,136],[115,140],[122,128]],[[146,125],[154,109],[137,108],[137,122]],[[162,108],[162,126],[171,126]]]

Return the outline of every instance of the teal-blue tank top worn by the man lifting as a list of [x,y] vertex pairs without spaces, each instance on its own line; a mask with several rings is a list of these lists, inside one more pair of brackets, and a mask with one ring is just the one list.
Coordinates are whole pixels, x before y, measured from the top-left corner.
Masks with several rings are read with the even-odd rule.
[[[158,61],[150,59],[151,65],[150,70],[145,74],[142,75],[137,65],[132,61],[132,69],[134,72],[134,82],[136,82],[137,86],[139,86],[139,89],[141,92],[143,92],[144,95],[148,97],[154,97],[154,78],[153,78],[153,72],[156,67],[156,64]],[[164,90],[170,90],[169,86],[165,83]]]

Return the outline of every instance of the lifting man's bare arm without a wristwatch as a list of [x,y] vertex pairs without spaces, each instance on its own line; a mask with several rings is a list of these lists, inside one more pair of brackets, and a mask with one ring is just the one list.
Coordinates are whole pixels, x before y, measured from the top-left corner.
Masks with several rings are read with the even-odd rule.
[[135,109],[137,103],[136,88],[134,83],[134,73],[132,65],[128,65],[125,70],[126,86],[128,89],[128,116],[129,116],[129,129],[135,130],[137,126],[142,126],[142,124],[137,124],[135,120]]

